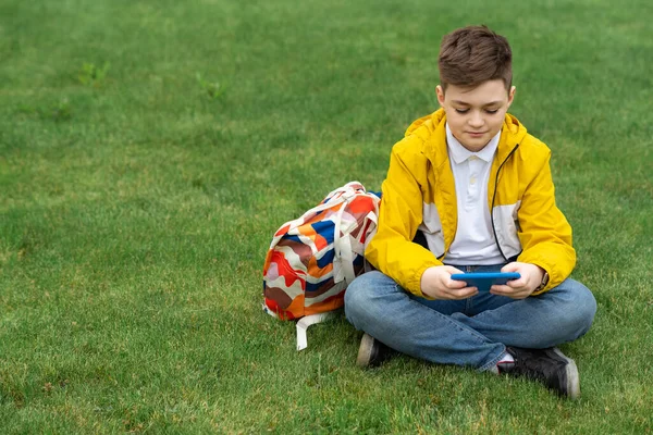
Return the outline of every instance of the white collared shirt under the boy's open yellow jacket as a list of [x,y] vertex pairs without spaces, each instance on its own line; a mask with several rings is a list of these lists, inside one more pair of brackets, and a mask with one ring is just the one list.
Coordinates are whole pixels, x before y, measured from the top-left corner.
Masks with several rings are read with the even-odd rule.
[[500,137],[501,132],[490,139],[485,148],[471,152],[460,145],[446,124],[446,144],[458,202],[456,236],[444,258],[447,264],[476,265],[505,262],[494,239],[488,208],[490,169]]

